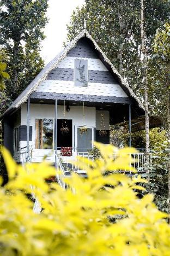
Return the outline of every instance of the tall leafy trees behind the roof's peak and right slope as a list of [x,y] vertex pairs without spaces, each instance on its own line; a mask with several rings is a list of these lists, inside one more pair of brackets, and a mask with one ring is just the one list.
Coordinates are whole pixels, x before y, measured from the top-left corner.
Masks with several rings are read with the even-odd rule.
[[[147,48],[153,43],[156,29],[165,24],[169,16],[170,2],[145,1],[145,38]],[[126,78],[138,95],[141,86],[141,0],[86,0],[86,4],[72,13],[68,25],[68,40],[83,29],[92,34],[113,65]]]

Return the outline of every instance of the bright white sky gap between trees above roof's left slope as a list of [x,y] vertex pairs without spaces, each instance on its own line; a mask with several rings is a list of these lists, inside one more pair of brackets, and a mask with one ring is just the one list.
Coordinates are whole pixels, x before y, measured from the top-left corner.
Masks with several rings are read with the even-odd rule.
[[69,23],[72,11],[81,6],[84,0],[48,0],[48,24],[42,42],[41,56],[45,64],[51,61],[62,49],[66,40],[66,24]]

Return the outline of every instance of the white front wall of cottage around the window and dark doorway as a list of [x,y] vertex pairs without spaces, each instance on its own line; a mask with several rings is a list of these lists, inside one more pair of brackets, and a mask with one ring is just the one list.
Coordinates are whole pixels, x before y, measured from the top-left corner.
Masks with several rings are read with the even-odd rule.
[[[64,119],[64,106],[58,106],[57,119]],[[95,107],[84,107],[83,123],[83,106],[70,106],[70,112],[65,111],[65,118],[72,119],[72,146],[74,147],[74,126],[96,127],[96,110]],[[42,161],[44,155],[50,155],[47,161],[54,162],[54,153],[52,150],[35,149],[35,119],[54,119],[54,105],[50,104],[31,104],[30,107],[30,125],[33,127],[32,142],[29,145],[33,147],[33,161]],[[27,125],[27,104],[21,106],[21,125]],[[21,141],[20,147],[26,147],[27,142]]]

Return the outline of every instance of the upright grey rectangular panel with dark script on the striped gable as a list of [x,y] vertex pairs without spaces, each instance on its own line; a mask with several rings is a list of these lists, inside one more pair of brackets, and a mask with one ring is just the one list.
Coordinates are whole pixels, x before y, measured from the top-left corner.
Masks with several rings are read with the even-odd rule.
[[87,60],[75,60],[74,68],[74,82],[75,86],[88,86],[88,61]]

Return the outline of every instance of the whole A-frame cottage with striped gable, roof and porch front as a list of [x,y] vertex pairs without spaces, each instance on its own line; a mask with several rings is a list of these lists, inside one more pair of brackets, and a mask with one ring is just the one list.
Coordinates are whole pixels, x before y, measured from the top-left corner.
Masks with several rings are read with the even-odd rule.
[[[88,155],[110,142],[110,125],[144,114],[141,102],[83,30],[3,114],[4,146],[16,162]],[[129,139],[131,145],[131,139]],[[63,160],[64,161],[64,160]],[[68,161],[68,160],[67,160]]]

